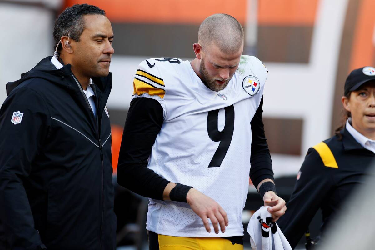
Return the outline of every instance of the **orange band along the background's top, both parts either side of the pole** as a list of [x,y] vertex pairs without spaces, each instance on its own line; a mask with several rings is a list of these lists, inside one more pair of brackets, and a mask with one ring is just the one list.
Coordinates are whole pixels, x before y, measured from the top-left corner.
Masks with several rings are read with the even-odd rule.
[[[209,15],[226,13],[246,22],[247,0],[67,0],[65,7],[89,3],[114,22],[201,24]],[[260,0],[258,22],[266,25],[314,25],[318,0]]]

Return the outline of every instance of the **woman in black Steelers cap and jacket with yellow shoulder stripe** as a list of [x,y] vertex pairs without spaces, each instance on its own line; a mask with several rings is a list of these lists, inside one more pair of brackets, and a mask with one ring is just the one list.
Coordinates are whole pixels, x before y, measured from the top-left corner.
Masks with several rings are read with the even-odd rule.
[[344,123],[335,136],[309,148],[288,210],[278,225],[294,249],[321,208],[324,231],[350,192],[366,175],[375,156],[375,68],[363,67],[348,76]]

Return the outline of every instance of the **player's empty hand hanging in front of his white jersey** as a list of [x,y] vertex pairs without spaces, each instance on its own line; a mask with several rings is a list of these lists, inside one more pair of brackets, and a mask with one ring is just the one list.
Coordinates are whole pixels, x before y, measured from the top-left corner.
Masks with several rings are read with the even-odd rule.
[[190,189],[186,196],[187,204],[203,221],[207,232],[211,232],[208,219],[211,220],[214,231],[219,234],[219,225],[222,232],[225,232],[225,226],[229,225],[228,217],[220,205],[196,189]]

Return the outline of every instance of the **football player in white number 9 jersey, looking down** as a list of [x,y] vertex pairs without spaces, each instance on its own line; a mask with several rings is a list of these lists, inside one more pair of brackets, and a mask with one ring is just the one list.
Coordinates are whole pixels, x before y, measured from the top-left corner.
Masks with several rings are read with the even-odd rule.
[[243,249],[249,173],[273,220],[285,213],[262,121],[267,69],[243,45],[240,23],[215,14],[199,27],[193,61],[139,64],[117,180],[150,199],[151,250]]

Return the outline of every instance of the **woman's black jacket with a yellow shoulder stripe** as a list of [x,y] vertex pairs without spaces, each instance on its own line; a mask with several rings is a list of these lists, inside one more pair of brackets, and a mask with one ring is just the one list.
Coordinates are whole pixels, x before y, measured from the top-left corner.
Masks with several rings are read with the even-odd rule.
[[287,204],[288,210],[277,222],[293,249],[319,208],[323,234],[335,223],[336,214],[353,190],[365,182],[363,177],[375,160],[375,154],[363,148],[346,128],[340,136],[335,135],[324,144],[329,150],[318,152],[315,147],[309,148]]

